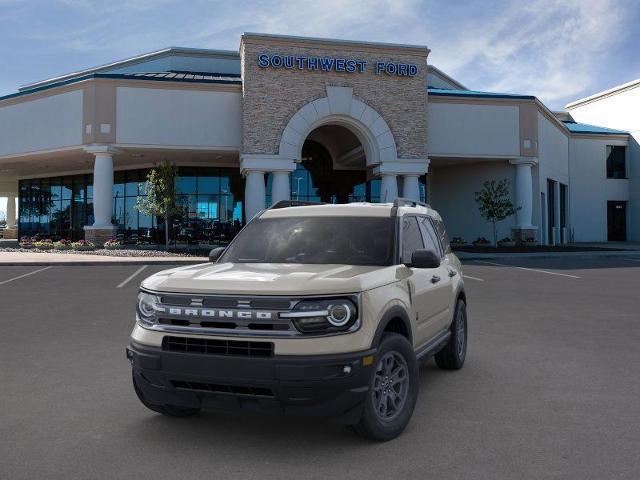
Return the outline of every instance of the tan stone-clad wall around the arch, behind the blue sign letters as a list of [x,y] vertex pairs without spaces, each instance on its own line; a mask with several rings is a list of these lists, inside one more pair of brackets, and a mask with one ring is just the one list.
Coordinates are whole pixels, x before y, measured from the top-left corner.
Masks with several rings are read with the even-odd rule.
[[[427,158],[427,55],[425,47],[245,35],[242,152],[278,154],[282,132],[305,104],[327,96],[327,86],[351,87],[353,97],[376,110],[394,136],[399,158]],[[361,59],[362,73],[262,68],[261,54]],[[417,65],[415,76],[375,74],[376,62]]]

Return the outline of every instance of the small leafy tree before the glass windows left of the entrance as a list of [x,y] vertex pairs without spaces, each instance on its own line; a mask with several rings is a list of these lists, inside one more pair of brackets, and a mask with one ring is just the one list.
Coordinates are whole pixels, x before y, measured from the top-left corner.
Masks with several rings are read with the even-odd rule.
[[[178,167],[163,161],[147,175],[146,197],[138,197],[136,209],[145,215],[164,218],[164,242],[169,250],[169,220],[182,213],[178,205],[174,178]],[[142,186],[142,185],[141,185]]]

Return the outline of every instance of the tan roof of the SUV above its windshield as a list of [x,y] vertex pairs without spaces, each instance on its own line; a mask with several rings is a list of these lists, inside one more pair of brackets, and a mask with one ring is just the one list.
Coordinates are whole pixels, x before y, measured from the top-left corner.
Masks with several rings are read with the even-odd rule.
[[309,205],[277,206],[262,212],[260,218],[286,217],[391,217],[406,214],[429,215],[440,218],[432,208],[425,205],[395,205],[393,203],[354,202],[343,204],[318,203]]

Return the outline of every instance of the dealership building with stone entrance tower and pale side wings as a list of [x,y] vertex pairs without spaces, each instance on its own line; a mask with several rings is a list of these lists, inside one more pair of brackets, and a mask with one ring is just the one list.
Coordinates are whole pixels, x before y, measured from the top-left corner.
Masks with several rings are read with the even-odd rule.
[[[449,234],[491,238],[475,192],[509,182],[499,238],[640,241],[640,81],[550,111],[466,88],[423,46],[244,34],[167,48],[0,97],[5,238],[159,240],[136,209],[178,166],[176,240],[218,243],[283,199],[426,200]],[[160,235],[160,239],[161,239]]]

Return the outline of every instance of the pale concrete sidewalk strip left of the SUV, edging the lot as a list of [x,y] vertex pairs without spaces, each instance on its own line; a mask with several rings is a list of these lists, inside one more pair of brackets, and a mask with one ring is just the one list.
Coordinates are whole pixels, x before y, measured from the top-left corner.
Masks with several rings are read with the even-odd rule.
[[0,252],[0,267],[21,265],[191,265],[208,260],[207,257],[112,257],[81,253]]

